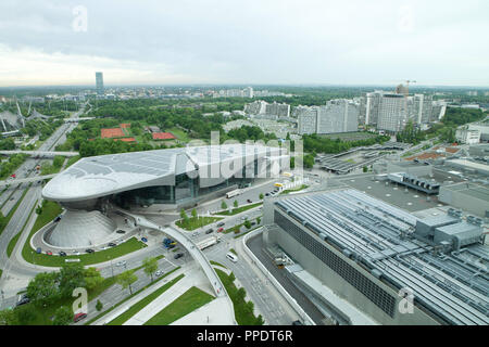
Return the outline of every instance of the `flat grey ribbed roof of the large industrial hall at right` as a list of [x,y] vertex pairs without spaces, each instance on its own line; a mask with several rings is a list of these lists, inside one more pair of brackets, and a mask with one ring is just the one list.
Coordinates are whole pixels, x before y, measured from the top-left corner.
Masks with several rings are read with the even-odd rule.
[[401,239],[417,217],[356,190],[288,196],[275,203],[329,244],[358,255],[396,286],[453,324],[489,324],[489,252],[473,245],[440,258],[418,240]]

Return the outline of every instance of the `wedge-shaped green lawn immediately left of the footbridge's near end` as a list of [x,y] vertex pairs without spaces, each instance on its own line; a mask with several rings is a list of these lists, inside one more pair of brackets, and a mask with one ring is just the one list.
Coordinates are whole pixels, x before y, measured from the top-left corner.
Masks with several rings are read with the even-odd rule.
[[145,325],[168,325],[181,317],[193,312],[199,307],[212,301],[214,297],[198,287],[192,286],[190,290],[180,295],[175,301],[166,306],[155,316],[153,316]]

